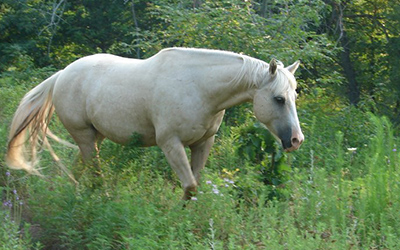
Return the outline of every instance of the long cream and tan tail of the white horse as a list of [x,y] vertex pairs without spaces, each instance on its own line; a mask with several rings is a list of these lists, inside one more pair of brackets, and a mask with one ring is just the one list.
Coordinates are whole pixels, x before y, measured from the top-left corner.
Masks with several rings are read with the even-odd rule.
[[29,91],[19,104],[11,123],[6,153],[10,168],[40,175],[35,168],[37,146],[40,141],[48,144],[46,131],[54,111],[52,95],[60,72]]

